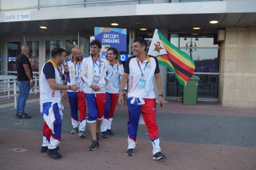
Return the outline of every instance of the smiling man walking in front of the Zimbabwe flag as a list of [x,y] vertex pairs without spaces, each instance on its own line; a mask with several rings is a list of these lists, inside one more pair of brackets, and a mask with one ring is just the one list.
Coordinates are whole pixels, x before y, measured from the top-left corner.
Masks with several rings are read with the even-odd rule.
[[123,105],[123,91],[128,81],[128,149],[127,156],[134,155],[136,146],[138,122],[140,114],[149,132],[149,137],[153,146],[153,159],[165,159],[162,154],[159,141],[157,123],[155,121],[155,93],[154,76],[159,92],[159,105],[162,106],[162,81],[160,76],[159,64],[156,57],[148,55],[145,51],[147,42],[142,38],[133,41],[133,57],[126,60],[125,73],[121,79],[119,90],[119,105]]

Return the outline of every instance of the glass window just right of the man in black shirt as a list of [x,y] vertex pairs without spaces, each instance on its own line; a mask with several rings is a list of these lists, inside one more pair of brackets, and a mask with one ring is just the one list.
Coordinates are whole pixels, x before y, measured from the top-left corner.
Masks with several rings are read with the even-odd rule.
[[39,71],[39,42],[27,42],[27,45],[30,49],[28,54],[28,59],[30,60],[32,71]]

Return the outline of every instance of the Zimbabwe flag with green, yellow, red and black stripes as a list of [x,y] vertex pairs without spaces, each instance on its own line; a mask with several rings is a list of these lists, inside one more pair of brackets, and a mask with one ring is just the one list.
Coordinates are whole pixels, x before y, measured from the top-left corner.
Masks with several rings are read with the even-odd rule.
[[171,69],[184,86],[195,71],[195,64],[190,56],[174,47],[157,29],[149,47],[149,55],[157,57],[159,65]]

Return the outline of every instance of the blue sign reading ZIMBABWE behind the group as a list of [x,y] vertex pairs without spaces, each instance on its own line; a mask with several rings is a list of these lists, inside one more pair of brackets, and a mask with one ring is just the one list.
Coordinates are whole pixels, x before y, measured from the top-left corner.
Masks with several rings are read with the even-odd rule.
[[109,47],[126,52],[126,29],[94,27],[94,37],[102,43],[102,53]]

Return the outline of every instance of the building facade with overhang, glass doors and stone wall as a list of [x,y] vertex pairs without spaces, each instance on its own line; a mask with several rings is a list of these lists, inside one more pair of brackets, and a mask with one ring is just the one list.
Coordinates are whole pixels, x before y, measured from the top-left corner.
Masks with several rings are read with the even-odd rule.
[[[150,43],[157,28],[194,60],[198,100],[256,107],[255,6],[250,0],[1,0],[1,75],[16,74],[15,59],[24,44],[39,75],[52,48],[65,48],[68,58],[73,47],[88,55],[94,27],[126,28],[122,55],[132,55],[135,38]],[[181,98],[184,87],[174,73],[161,67],[161,76],[165,99]]]

